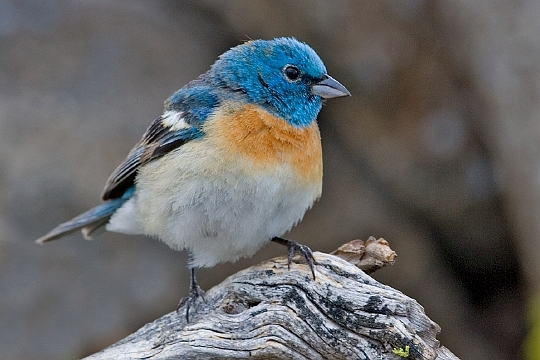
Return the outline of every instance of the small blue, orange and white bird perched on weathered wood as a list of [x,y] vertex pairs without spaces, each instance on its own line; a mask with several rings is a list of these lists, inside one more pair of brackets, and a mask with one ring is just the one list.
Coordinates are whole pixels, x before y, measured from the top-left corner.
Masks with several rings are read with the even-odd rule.
[[323,101],[350,96],[321,58],[293,37],[249,40],[174,92],[110,175],[98,205],[36,240],[76,231],[142,234],[187,250],[190,307],[204,291],[196,268],[252,256],[270,241],[315,279],[311,249],[283,238],[319,199]]

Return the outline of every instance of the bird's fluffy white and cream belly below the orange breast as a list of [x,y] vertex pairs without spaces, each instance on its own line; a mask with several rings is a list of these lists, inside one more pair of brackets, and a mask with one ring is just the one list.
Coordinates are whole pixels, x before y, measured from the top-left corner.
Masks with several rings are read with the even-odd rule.
[[321,181],[299,184],[288,166],[257,173],[191,145],[140,169],[134,197],[107,230],[158,237],[187,249],[190,266],[210,267],[253,255],[320,196]]

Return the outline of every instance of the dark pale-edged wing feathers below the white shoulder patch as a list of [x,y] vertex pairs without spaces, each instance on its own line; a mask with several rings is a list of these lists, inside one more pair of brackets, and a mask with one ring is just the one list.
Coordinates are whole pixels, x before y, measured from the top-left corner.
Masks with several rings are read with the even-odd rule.
[[134,184],[140,166],[201,135],[202,130],[197,127],[172,131],[170,127],[164,125],[163,117],[160,116],[152,122],[142,139],[129,152],[126,160],[109,176],[102,199],[111,200],[121,197]]

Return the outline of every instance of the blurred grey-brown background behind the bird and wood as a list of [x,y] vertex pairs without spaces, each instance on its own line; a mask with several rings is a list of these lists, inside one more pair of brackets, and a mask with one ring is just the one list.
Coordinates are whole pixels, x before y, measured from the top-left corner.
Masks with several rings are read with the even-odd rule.
[[323,197],[288,237],[384,237],[398,258],[374,277],[457,356],[540,358],[540,2],[0,0],[0,359],[75,359],[175,309],[184,253],[34,240],[99,203],[172,92],[277,36],[353,94],[322,110]]

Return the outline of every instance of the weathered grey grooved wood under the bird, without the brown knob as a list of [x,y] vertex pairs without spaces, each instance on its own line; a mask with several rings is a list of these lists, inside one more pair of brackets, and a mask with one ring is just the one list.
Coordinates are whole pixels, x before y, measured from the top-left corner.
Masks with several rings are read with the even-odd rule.
[[315,281],[272,259],[209,290],[189,324],[172,312],[86,359],[457,359],[414,299],[337,256],[315,259]]

